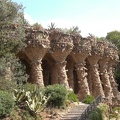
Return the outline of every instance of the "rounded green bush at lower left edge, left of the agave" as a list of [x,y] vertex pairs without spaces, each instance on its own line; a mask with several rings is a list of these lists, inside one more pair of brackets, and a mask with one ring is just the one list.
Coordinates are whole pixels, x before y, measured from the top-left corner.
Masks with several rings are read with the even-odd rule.
[[0,91],[0,117],[9,115],[14,107],[12,95],[5,91]]

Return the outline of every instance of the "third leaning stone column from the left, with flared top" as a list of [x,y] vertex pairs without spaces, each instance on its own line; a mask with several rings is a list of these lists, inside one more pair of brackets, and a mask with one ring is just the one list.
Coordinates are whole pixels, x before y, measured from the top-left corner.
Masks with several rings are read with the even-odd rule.
[[78,77],[79,91],[78,97],[80,100],[90,95],[89,86],[87,82],[87,73],[85,72],[85,59],[90,54],[91,45],[87,38],[82,38],[79,34],[73,36],[74,48],[71,56],[76,62],[76,72]]

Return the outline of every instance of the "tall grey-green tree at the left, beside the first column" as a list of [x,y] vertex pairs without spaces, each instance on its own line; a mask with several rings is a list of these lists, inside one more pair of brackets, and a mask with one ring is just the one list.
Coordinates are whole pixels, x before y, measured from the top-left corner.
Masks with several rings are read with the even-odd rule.
[[[10,0],[0,0],[0,80],[6,79],[6,71],[10,68],[12,79],[23,80],[26,74],[16,58],[16,54],[25,44],[25,27],[23,7]],[[19,70],[19,72],[18,72]],[[16,77],[17,76],[17,77]]]

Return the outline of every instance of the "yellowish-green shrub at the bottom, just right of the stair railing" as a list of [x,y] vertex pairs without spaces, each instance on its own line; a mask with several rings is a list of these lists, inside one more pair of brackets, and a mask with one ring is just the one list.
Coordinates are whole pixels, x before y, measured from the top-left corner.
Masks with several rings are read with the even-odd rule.
[[105,114],[108,112],[108,106],[101,103],[94,111],[89,115],[90,120],[104,120]]

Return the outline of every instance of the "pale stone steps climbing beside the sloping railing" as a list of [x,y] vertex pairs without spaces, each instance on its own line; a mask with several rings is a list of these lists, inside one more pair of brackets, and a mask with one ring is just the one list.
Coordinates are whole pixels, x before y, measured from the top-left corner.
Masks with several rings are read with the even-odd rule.
[[[67,114],[63,115],[60,120],[80,120],[80,116],[83,111],[88,107],[86,104],[81,104],[71,108]],[[82,120],[82,119],[81,119]],[[83,118],[84,120],[84,118]]]

